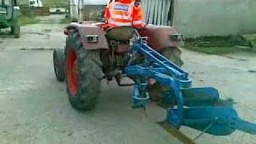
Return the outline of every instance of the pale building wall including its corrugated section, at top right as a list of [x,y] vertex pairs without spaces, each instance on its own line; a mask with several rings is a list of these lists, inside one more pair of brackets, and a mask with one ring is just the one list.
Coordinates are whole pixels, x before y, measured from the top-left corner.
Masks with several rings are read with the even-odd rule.
[[185,37],[256,33],[256,0],[143,0],[146,22]]

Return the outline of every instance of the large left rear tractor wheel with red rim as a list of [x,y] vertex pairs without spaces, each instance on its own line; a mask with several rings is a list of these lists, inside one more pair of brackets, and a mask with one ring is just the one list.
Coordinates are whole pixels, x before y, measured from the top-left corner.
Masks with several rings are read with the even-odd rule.
[[99,50],[86,50],[78,33],[66,39],[66,91],[71,106],[91,110],[98,103],[102,64]]

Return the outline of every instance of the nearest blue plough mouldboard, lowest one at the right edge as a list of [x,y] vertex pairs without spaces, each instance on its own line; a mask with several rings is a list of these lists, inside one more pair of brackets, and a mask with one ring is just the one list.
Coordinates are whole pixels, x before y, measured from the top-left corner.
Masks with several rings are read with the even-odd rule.
[[[238,118],[236,110],[232,106],[194,106],[183,108],[183,126],[189,126],[195,130],[205,130],[210,123],[215,122],[206,133],[226,136],[234,130],[242,130],[250,134],[256,134],[256,125]],[[167,122],[178,125],[172,118],[177,109],[167,111]],[[179,126],[181,126],[179,125]]]

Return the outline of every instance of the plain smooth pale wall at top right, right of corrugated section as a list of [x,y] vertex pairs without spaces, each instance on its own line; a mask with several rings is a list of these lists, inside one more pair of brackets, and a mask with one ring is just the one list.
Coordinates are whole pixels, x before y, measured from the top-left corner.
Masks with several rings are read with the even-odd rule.
[[186,37],[256,33],[256,0],[175,0],[173,24]]

